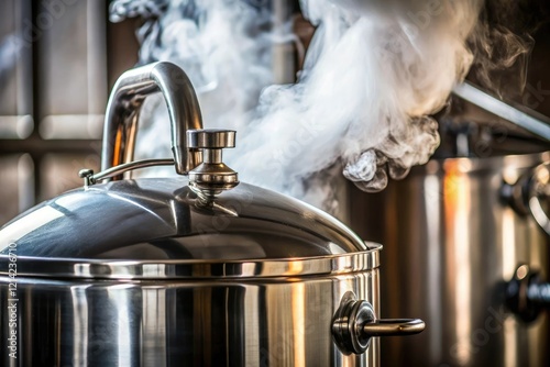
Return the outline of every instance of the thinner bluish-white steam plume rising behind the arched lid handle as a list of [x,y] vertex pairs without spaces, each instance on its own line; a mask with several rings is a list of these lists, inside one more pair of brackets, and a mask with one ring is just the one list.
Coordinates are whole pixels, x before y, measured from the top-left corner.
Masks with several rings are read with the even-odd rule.
[[[141,14],[140,64],[172,62],[189,76],[206,127],[235,129],[245,135],[262,88],[273,84],[272,14],[263,1],[116,0],[113,22]],[[289,37],[294,35],[287,31]],[[283,34],[284,35],[284,34]],[[136,158],[169,157],[164,102],[147,99],[140,121]],[[170,175],[160,168],[150,175]]]

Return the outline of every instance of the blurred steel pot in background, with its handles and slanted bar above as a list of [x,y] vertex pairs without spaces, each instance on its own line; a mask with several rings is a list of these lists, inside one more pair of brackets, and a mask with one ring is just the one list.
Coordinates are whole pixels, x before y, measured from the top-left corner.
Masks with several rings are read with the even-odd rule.
[[395,353],[383,365],[549,366],[550,144],[519,127],[529,122],[543,137],[550,125],[462,89],[517,126],[460,105],[457,121],[441,121],[439,157],[350,200],[351,226],[383,242],[393,265],[382,269],[382,313],[411,312],[431,326],[385,340],[383,353]]

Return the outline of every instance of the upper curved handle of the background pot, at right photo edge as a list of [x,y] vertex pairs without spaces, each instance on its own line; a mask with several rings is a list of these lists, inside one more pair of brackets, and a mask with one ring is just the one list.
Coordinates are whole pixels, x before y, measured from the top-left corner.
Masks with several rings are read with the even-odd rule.
[[544,212],[541,201],[550,200],[550,162],[535,168],[529,182],[529,198],[527,207],[539,226],[550,235],[550,219]]

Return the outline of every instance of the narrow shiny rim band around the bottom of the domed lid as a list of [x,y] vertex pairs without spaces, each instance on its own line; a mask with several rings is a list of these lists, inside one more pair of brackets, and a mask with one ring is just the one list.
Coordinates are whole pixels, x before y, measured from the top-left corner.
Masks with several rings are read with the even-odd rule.
[[[16,244],[13,243],[13,245]],[[78,279],[263,279],[319,275],[355,274],[380,266],[382,246],[369,244],[359,254],[323,257],[251,259],[251,260],[98,260],[35,258],[18,256],[18,275],[42,278]],[[9,246],[8,246],[9,247]],[[8,251],[4,252],[8,254]],[[9,255],[0,255],[0,264],[9,264]],[[6,266],[3,275],[9,274]]]

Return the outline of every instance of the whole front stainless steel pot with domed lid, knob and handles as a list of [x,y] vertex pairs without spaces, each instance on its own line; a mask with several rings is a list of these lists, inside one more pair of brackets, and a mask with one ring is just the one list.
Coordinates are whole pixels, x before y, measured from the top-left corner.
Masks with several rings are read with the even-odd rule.
[[[174,159],[132,162],[161,91]],[[3,366],[376,366],[378,254],[332,216],[239,182],[235,132],[202,130],[185,73],[130,70],[107,109],[102,171],[0,230]],[[176,178],[123,179],[151,165]],[[107,182],[100,184],[100,181]]]

